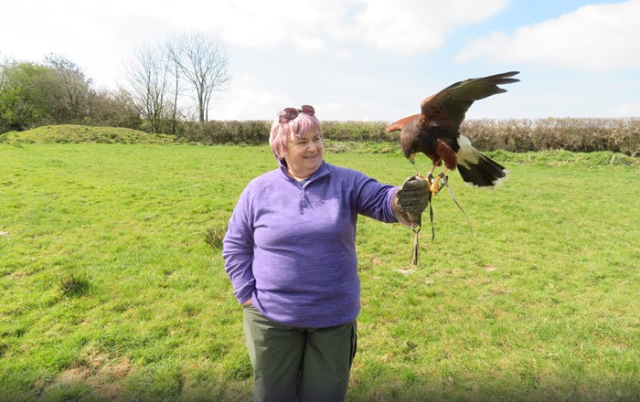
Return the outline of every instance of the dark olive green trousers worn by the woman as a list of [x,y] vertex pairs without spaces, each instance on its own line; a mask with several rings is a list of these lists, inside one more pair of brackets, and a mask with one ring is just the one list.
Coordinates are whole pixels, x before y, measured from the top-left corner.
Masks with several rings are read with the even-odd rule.
[[296,328],[244,308],[244,335],[253,365],[253,400],[344,401],[356,354],[357,324]]

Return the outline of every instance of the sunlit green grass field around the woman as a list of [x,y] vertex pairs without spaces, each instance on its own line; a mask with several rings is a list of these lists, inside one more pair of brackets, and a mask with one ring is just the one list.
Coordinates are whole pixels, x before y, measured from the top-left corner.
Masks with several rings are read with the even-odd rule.
[[[327,149],[382,182],[415,173],[398,152]],[[471,227],[441,192],[418,267],[411,230],[359,219],[347,399],[640,400],[640,164],[492,155],[509,180],[451,175]],[[267,146],[0,143],[0,401],[249,400],[205,234],[274,167]]]

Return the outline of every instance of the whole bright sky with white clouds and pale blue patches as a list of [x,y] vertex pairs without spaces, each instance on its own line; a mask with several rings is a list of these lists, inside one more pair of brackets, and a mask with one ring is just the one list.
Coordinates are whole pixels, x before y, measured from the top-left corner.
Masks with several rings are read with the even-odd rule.
[[123,85],[136,48],[218,37],[232,79],[209,120],[394,122],[462,79],[520,71],[467,119],[640,116],[640,0],[4,0],[0,59],[69,59]]

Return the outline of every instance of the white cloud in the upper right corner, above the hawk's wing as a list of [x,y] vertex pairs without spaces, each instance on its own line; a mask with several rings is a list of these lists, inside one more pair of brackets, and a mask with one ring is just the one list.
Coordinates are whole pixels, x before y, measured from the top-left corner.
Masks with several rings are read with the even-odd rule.
[[457,61],[489,58],[499,63],[609,71],[640,68],[640,1],[585,5],[577,11],[513,35],[494,32],[470,43]]

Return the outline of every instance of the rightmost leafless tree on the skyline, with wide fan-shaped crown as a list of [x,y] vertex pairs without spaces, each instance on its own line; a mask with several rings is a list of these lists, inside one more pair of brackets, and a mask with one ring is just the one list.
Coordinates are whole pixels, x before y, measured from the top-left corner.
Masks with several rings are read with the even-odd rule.
[[208,122],[208,110],[213,93],[224,90],[231,79],[226,49],[217,37],[202,33],[187,33],[172,39],[167,48],[197,103],[200,122]]

